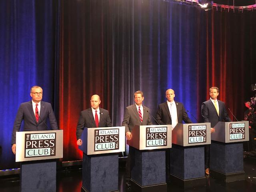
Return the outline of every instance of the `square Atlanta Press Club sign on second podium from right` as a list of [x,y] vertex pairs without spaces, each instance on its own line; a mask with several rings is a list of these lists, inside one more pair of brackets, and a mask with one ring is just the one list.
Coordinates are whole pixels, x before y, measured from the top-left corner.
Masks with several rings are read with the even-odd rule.
[[188,143],[205,143],[206,125],[188,126]]

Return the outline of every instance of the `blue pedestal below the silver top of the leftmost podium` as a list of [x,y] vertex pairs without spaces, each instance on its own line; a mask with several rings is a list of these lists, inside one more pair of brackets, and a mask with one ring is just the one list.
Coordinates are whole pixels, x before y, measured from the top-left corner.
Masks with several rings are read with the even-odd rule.
[[56,191],[56,161],[22,162],[20,191]]

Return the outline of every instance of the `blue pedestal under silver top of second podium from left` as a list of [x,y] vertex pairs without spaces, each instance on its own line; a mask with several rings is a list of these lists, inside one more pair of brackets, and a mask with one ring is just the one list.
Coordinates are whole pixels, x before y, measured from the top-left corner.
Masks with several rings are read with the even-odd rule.
[[118,154],[83,154],[82,191],[118,191]]

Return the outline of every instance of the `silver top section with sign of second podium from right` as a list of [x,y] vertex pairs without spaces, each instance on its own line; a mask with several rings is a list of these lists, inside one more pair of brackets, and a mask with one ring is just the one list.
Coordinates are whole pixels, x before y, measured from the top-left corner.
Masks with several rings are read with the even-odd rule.
[[172,130],[172,143],[180,146],[211,144],[210,123],[178,123]]

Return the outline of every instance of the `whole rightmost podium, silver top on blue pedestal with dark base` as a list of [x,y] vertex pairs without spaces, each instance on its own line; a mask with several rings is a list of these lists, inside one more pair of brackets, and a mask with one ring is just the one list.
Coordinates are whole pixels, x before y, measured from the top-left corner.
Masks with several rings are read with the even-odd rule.
[[244,180],[243,143],[249,140],[249,122],[218,122],[210,145],[211,176],[225,182]]

